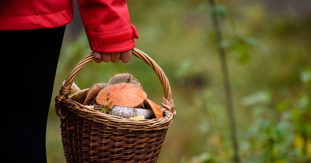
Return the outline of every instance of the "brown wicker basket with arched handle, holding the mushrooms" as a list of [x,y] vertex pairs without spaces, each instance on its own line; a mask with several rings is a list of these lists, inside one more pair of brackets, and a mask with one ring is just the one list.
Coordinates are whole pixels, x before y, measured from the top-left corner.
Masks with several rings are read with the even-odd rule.
[[162,69],[148,55],[132,49],[159,77],[164,89],[160,119],[130,120],[89,109],[68,98],[70,87],[79,71],[93,60],[90,53],[68,75],[55,109],[61,117],[61,134],[67,162],[150,163],[159,157],[166,131],[176,111],[171,88]]

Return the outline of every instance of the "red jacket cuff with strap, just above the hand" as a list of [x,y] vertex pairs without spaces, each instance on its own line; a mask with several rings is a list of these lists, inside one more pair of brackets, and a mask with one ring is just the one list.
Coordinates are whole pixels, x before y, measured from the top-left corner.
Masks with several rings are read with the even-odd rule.
[[138,38],[134,25],[126,31],[103,35],[100,33],[87,34],[90,48],[94,52],[112,53],[123,52],[135,47],[134,38]]

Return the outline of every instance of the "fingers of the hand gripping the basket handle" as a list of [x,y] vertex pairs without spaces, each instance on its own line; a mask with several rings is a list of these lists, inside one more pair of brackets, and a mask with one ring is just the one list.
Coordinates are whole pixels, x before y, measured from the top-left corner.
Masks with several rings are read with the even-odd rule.
[[128,63],[132,57],[132,50],[127,50],[124,52],[116,52],[116,53],[101,53],[101,52],[93,52],[93,60],[96,63],[104,62],[113,62],[117,63],[120,59],[123,63]]

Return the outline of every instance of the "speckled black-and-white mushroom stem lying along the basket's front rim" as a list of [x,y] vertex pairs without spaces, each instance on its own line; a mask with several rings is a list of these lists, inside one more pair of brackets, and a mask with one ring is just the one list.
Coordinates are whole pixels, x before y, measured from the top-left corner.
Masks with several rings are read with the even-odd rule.
[[146,119],[152,119],[155,117],[155,114],[151,109],[132,108],[118,105],[112,107],[108,114],[123,118],[132,118],[139,115],[143,115]]

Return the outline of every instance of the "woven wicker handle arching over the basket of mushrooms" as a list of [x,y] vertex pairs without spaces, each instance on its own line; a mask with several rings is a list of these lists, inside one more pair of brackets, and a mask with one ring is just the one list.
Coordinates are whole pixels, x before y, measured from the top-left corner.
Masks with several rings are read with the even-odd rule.
[[[166,78],[163,70],[161,67],[156,64],[153,59],[151,59],[147,54],[144,52],[133,48],[132,49],[132,55],[135,57],[140,58],[142,61],[144,61],[147,65],[149,65],[156,73],[156,75],[159,77],[160,82],[162,84],[163,90],[164,90],[164,97],[162,102],[162,114],[164,111],[168,110],[173,113],[174,109],[174,102],[172,99],[172,91],[171,87],[169,85],[169,80]],[[88,54],[86,57],[82,58],[78,64],[73,68],[73,70],[70,72],[70,74],[67,76],[64,86],[59,90],[59,96],[55,97],[55,111],[58,116],[61,118],[64,118],[61,111],[60,111],[60,103],[68,99],[68,95],[70,94],[71,85],[73,83],[73,80],[76,78],[79,71],[89,62],[93,60],[93,52]]]

